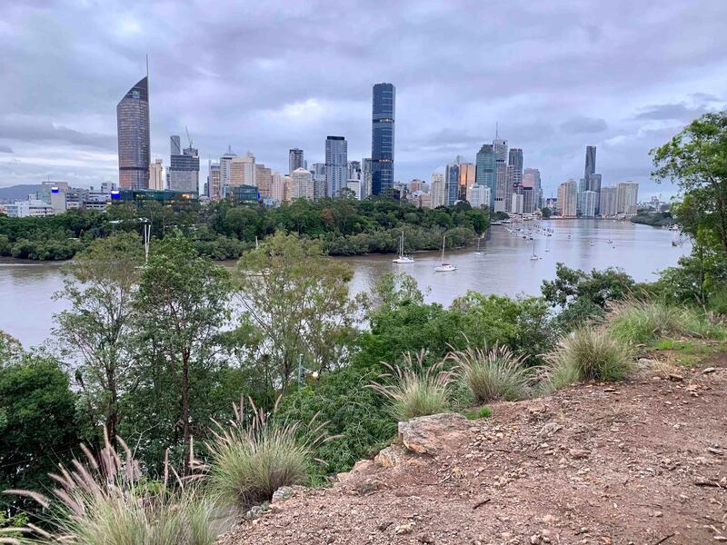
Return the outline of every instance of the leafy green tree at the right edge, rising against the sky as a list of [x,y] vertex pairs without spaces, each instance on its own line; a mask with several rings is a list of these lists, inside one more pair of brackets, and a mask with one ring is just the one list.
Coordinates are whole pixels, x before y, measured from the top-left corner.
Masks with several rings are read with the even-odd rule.
[[727,112],[702,115],[650,154],[652,177],[671,179],[684,193],[692,221],[682,222],[677,207],[682,227],[692,236],[699,226],[709,228],[727,254]]

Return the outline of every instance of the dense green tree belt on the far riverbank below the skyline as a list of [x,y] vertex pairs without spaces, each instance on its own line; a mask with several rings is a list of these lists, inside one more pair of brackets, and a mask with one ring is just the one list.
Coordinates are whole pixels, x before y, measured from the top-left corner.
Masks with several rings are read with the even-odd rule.
[[115,233],[141,233],[151,224],[152,236],[184,233],[198,253],[214,260],[237,259],[254,248],[255,240],[278,231],[319,240],[330,255],[393,253],[402,231],[405,250],[437,250],[443,234],[449,247],[473,242],[489,225],[486,209],[468,203],[436,210],[370,197],[298,199],[278,208],[258,203],[118,203],[105,211],[70,210],[43,218],[0,216],[0,256],[38,261],[66,260],[97,238]]

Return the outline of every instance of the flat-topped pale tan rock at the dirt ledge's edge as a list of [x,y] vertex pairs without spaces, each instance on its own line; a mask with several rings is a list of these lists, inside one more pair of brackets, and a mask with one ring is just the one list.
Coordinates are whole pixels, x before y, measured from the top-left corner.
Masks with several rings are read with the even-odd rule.
[[403,446],[418,454],[431,456],[446,450],[448,442],[462,441],[470,422],[461,414],[447,412],[399,422]]

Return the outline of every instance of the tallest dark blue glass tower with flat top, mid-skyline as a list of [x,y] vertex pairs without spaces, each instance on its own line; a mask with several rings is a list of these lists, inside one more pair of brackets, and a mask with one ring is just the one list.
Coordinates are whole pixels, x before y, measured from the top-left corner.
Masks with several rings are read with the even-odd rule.
[[393,84],[373,85],[372,101],[372,193],[393,188],[393,122],[396,88]]

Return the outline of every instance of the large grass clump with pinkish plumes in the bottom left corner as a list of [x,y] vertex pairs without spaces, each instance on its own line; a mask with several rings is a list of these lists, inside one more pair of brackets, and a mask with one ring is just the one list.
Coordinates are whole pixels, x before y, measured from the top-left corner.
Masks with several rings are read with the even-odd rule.
[[[176,476],[174,487],[166,481],[150,490],[124,441],[124,456],[105,438],[98,460],[83,449],[85,463],[74,461],[51,475],[57,487],[54,498],[28,490],[7,490],[40,503],[47,513],[44,528],[29,524],[19,543],[50,545],[211,545],[213,504],[197,486]],[[168,471],[165,471],[168,475]],[[2,540],[0,540],[1,542]],[[12,541],[9,541],[12,542]]]

